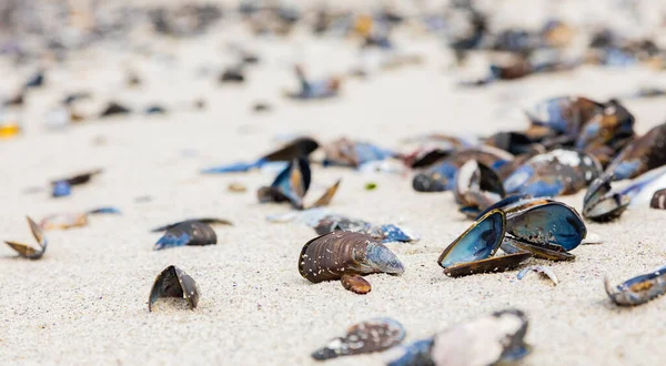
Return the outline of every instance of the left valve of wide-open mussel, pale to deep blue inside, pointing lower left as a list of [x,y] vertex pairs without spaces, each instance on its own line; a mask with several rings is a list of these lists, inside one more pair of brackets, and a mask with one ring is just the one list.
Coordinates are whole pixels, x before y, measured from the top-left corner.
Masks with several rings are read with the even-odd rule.
[[474,222],[461,236],[440,255],[437,263],[443,268],[492,257],[504,238],[506,216],[493,210]]

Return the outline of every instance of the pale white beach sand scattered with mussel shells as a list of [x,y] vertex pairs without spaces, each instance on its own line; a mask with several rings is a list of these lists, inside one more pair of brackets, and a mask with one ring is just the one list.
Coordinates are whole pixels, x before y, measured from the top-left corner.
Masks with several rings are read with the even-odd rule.
[[[92,217],[84,228],[48,232],[49,248],[38,262],[14,258],[9,247],[0,246],[1,364],[312,365],[312,350],[366,318],[400,321],[411,342],[508,307],[529,317],[527,340],[534,352],[524,365],[663,364],[666,299],[618,308],[606,297],[603,278],[607,274],[619,283],[666,262],[666,212],[634,209],[616,223],[589,223],[604,244],[576,248],[572,263],[533,261],[553,267],[561,281],[556,287],[536,275],[518,281],[517,271],[453,279],[435,261],[470,223],[456,212],[451,193],[418,194],[411,176],[315,169],[317,186],[343,177],[331,211],[375,223],[402,222],[423,237],[416,244],[390,244],[405,274],[369,276],[373,289],[360,296],[339,282],[311,284],[299,275],[300,250],[315,233],[300,224],[265,221],[289,211],[256,202],[255,190],[269,184],[272,173],[198,172],[259,156],[278,144],[278,134],[306,133],[322,141],[349,135],[396,146],[402,138],[420,133],[521,129],[526,122],[519,106],[533,101],[559,94],[605,100],[643,84],[664,85],[663,73],[582,68],[460,90],[455,82],[462,74],[447,69],[450,55],[438,41],[402,34],[400,45],[426,54],[425,65],[350,80],[339,100],[299,104],[280,96],[283,88],[296,87],[291,63],[301,60],[320,75],[344,72],[355,62],[353,43],[313,42],[304,32],[289,42],[254,42],[262,63],[250,70],[250,82],[220,87],[216,75],[196,78],[195,69],[231,62],[222,47],[240,32],[231,26],[221,29],[226,32],[193,41],[155,41],[154,50],[176,55],[171,65],[120,47],[85,52],[65,68],[50,69],[48,87],[28,96],[26,134],[0,142],[0,238],[32,242],[26,214],[40,220],[99,205],[117,205],[124,214]],[[125,67],[141,72],[144,85],[139,90],[124,87]],[[0,91],[10,93],[32,69],[14,73],[3,64],[0,70]],[[67,132],[46,131],[44,109],[83,87],[94,92],[97,104],[90,109],[109,99],[140,109],[152,101],[183,106],[165,118],[137,114],[85,122]],[[185,110],[200,96],[208,100],[208,110]],[[273,104],[274,111],[251,113],[258,100]],[[626,105],[640,133],[666,116],[663,98]],[[107,143],[95,145],[98,138]],[[186,156],[185,150],[195,156]],[[98,166],[105,173],[75,187],[70,197],[22,193]],[[371,181],[379,189],[364,191]],[[249,191],[228,192],[230,182]],[[153,201],[134,203],[141,195]],[[582,197],[564,201],[581,209]],[[152,251],[159,235],[149,228],[209,215],[235,223],[216,230],[218,245]],[[148,312],[152,282],[170,264],[198,282],[201,302],[194,312],[175,302],[159,302],[155,312]],[[382,355],[374,354],[326,365],[382,363]]]

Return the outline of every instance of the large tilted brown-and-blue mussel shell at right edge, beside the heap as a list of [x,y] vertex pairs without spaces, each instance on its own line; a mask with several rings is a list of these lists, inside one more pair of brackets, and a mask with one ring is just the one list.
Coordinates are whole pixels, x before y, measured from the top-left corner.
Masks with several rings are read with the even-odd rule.
[[606,169],[614,179],[636,177],[666,164],[666,123],[649,130],[627,145]]

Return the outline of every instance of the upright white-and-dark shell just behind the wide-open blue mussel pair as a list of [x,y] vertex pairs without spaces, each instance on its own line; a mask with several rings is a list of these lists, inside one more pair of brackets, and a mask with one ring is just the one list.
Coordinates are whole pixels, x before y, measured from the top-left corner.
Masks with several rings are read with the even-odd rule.
[[505,192],[495,171],[471,160],[456,173],[454,195],[460,211],[470,217],[476,217],[482,210],[504,199]]

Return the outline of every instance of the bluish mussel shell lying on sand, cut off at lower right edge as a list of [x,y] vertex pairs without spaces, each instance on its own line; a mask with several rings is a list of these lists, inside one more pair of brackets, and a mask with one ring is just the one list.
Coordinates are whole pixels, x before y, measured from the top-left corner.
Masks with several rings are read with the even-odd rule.
[[608,278],[605,278],[604,287],[608,297],[617,305],[636,306],[645,304],[666,293],[666,266],[627,279],[617,286],[612,286]]

